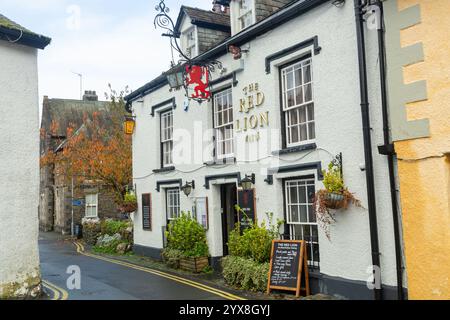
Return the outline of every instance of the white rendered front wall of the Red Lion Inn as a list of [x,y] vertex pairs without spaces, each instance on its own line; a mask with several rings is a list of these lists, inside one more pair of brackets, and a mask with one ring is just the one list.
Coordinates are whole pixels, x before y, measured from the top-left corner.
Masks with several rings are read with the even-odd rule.
[[[368,70],[371,86],[369,96],[371,103],[371,123],[373,128],[373,155],[375,166],[378,227],[380,238],[383,283],[395,285],[394,233],[392,227],[392,210],[390,205],[387,162],[378,154],[377,145],[383,144],[380,88],[378,80],[378,50],[376,32],[367,32]],[[233,88],[234,118],[241,119],[239,99],[243,98],[243,87],[257,82],[265,93],[265,103],[258,110],[270,112],[270,129],[280,133],[279,76],[277,66],[292,61],[311,48],[300,50],[272,63],[272,72],[265,72],[265,58],[270,54],[286,49],[301,41],[318,36],[322,52],[313,57],[314,100],[316,119],[317,150],[276,157],[267,161],[247,162],[248,158],[238,153],[237,164],[226,168],[204,167],[192,173],[188,172],[202,167],[203,162],[211,157],[203,156],[192,164],[177,164],[177,171],[165,174],[152,174],[153,169],[160,168],[159,157],[159,116],[151,117],[151,107],[175,96],[177,108],[174,110],[174,128],[187,130],[182,136],[194,136],[194,128],[204,130],[212,127],[211,103],[198,105],[191,102],[188,112],[183,111],[184,91],[170,93],[168,87],[161,88],[144,98],[143,103],[134,102],[137,116],[137,130],[134,136],[134,177],[138,194],[152,193],[153,232],[143,231],[140,212],[136,216],[135,241],[138,245],[161,248],[161,226],[165,224],[164,192],[155,191],[156,181],[182,179],[183,182],[195,179],[196,189],[191,198],[209,197],[210,230],[208,240],[212,256],[222,255],[222,228],[220,217],[219,188],[212,182],[210,190],[203,187],[206,175],[241,172],[242,175],[256,173],[256,210],[259,221],[266,212],[274,212],[280,219],[283,214],[283,196],[281,178],[316,174],[315,171],[279,174],[274,177],[274,184],[264,182],[263,174],[268,167],[292,164],[322,162],[326,168],[332,155],[343,153],[344,178],[350,191],[362,201],[364,208],[351,207],[338,214],[337,223],[331,228],[331,241],[320,231],[320,271],[329,276],[349,280],[366,281],[367,269],[372,265],[367,204],[367,187],[365,172],[360,170],[364,163],[363,134],[359,94],[359,73],[356,42],[354,9],[351,3],[343,8],[331,4],[322,5],[246,44],[249,53],[243,55],[245,70],[237,73],[239,84]],[[219,58],[228,72],[237,70],[239,61],[233,61],[230,55]],[[215,79],[220,77],[218,74]],[[227,83],[221,84],[226,85]],[[189,132],[189,134],[188,134]],[[236,137],[242,134],[235,133]],[[211,135],[209,135],[211,137]],[[275,135],[267,152],[260,152],[257,158],[265,158],[272,151],[281,149],[281,137]],[[270,139],[269,139],[270,140]],[[188,140],[183,140],[188,145]],[[252,150],[258,143],[244,143]],[[192,144],[193,145],[193,144]],[[200,152],[192,151],[197,157]],[[255,154],[250,151],[249,154]],[[194,156],[192,156],[194,157]],[[189,157],[186,157],[189,158]],[[317,179],[316,179],[317,180]],[[216,183],[224,183],[218,181]],[[316,189],[322,188],[320,181]],[[139,199],[140,201],[140,199]],[[192,202],[181,194],[181,209],[190,210]]]

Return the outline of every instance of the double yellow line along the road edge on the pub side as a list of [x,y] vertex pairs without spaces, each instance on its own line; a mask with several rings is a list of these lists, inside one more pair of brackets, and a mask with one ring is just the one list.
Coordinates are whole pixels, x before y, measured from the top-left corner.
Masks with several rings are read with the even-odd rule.
[[81,254],[81,255],[86,256],[86,257],[107,261],[107,262],[110,262],[110,263],[114,263],[114,264],[117,264],[117,265],[121,265],[121,266],[124,266],[124,267],[131,268],[131,269],[135,269],[135,270],[147,272],[147,273],[150,273],[150,274],[153,274],[153,275],[157,275],[157,276],[162,277],[162,278],[170,279],[170,280],[173,280],[175,282],[182,283],[182,284],[185,284],[185,285],[188,285],[188,286],[200,289],[202,291],[206,291],[206,292],[212,293],[212,294],[214,294],[216,296],[222,297],[222,298],[227,299],[227,300],[246,300],[246,299],[244,299],[242,297],[236,296],[236,295],[231,294],[229,292],[222,291],[222,290],[219,290],[219,289],[216,289],[216,288],[204,285],[202,283],[199,283],[199,282],[196,282],[196,281],[193,281],[193,280],[189,280],[189,279],[185,279],[185,278],[181,278],[181,277],[178,277],[178,276],[175,276],[175,275],[172,275],[172,274],[169,274],[169,273],[165,273],[165,272],[162,272],[162,271],[159,271],[159,270],[150,269],[150,268],[146,268],[146,267],[141,267],[141,266],[137,266],[135,264],[131,264],[131,263],[128,263],[128,262],[115,260],[115,259],[111,259],[111,258],[106,258],[106,257],[98,256],[98,255],[95,255],[95,254],[91,254],[91,253],[86,253],[85,250],[84,250],[84,246],[81,243],[74,242],[74,244],[77,247],[77,252],[79,254]]

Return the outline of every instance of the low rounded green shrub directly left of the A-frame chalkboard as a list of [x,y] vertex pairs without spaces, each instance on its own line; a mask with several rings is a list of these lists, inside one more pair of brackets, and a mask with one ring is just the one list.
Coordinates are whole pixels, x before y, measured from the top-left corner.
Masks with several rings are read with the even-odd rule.
[[225,282],[237,289],[264,292],[270,266],[252,259],[228,256],[222,258],[222,274]]

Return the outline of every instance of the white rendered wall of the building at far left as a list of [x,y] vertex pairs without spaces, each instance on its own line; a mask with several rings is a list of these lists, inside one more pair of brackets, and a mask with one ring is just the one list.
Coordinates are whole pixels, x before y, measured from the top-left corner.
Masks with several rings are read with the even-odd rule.
[[0,41],[0,109],[0,297],[22,296],[40,282],[36,49]]

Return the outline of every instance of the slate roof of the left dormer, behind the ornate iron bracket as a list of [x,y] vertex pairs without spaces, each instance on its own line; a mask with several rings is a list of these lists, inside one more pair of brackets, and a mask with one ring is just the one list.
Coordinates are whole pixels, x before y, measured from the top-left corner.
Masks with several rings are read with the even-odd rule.
[[206,24],[213,26],[221,26],[223,28],[231,28],[230,16],[223,13],[216,13],[213,11],[203,10],[199,8],[192,8],[181,6],[180,14],[178,15],[175,26],[176,31],[180,31],[183,17],[187,15],[192,19],[192,24]]

